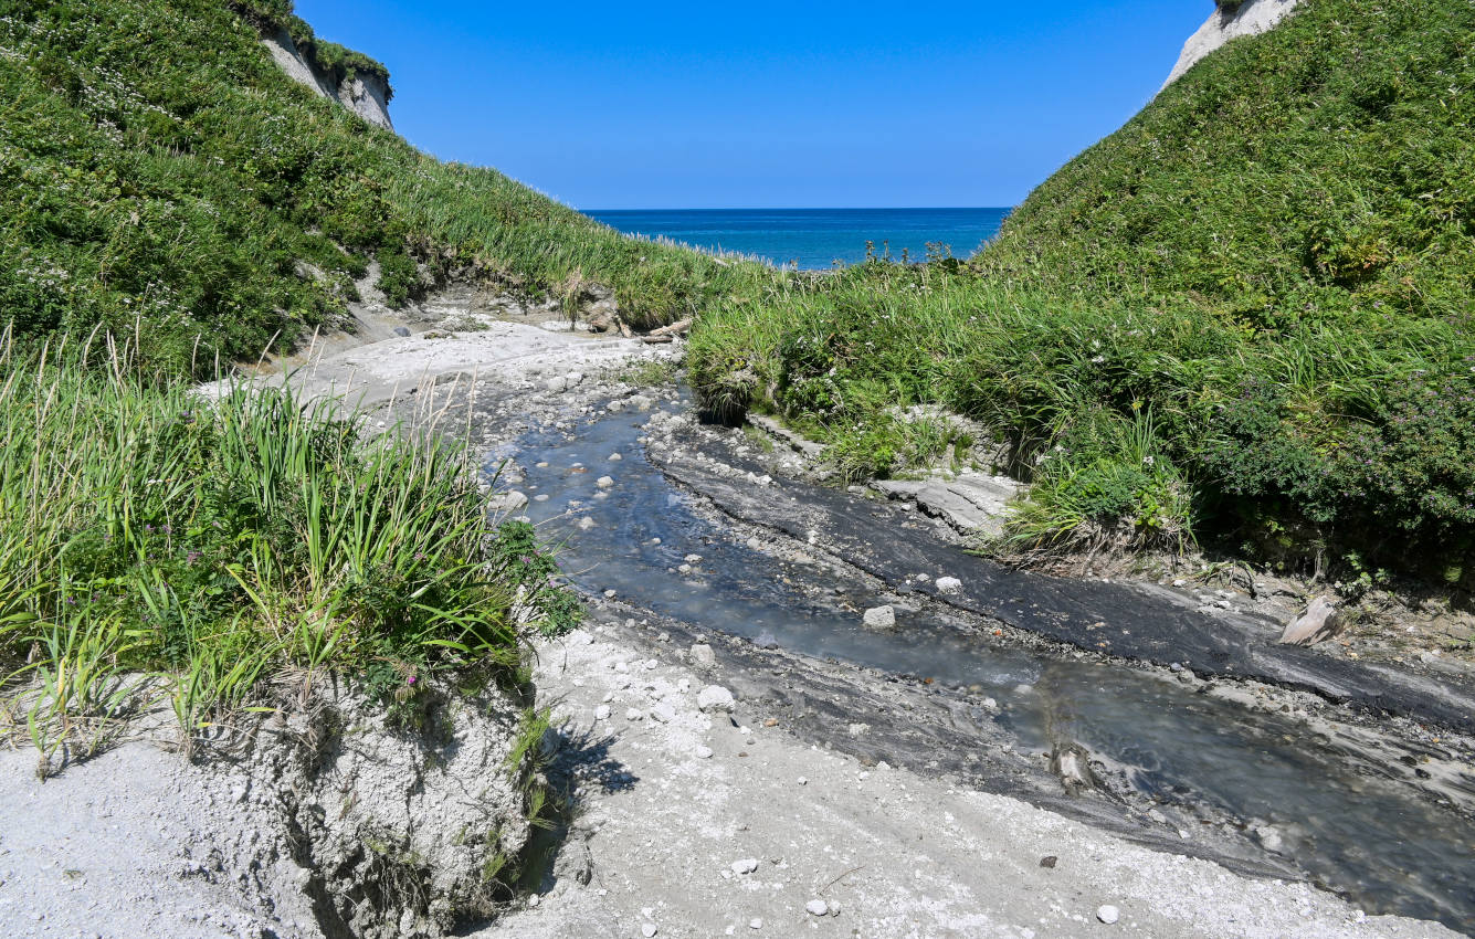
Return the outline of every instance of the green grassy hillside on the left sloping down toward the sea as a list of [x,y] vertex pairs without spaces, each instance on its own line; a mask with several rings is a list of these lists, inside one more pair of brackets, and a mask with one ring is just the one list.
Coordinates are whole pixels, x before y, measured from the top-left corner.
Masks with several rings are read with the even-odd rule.
[[[22,339],[137,324],[140,367],[204,373],[338,321],[373,259],[401,302],[417,265],[531,295],[577,276],[636,324],[763,277],[622,239],[320,100],[257,41],[266,21],[310,35],[285,0],[0,10],[0,310]],[[320,40],[308,55],[382,68]]]

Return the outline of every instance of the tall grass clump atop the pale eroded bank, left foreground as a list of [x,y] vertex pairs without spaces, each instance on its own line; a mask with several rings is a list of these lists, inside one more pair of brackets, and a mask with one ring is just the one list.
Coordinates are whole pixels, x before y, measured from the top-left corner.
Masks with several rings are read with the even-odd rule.
[[[0,346],[0,657],[43,753],[150,694],[186,747],[292,669],[386,706],[438,671],[513,681],[552,563],[487,517],[466,451],[333,401],[140,373],[111,338]],[[423,687],[423,685],[422,685]],[[145,693],[148,691],[148,693]]]

